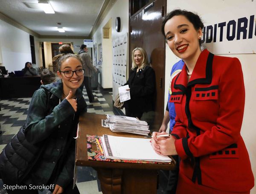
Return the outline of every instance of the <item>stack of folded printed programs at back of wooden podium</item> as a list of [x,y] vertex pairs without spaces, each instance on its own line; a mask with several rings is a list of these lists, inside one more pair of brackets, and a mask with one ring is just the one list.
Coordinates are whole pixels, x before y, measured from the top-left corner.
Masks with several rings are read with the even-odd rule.
[[107,115],[102,120],[102,127],[108,127],[113,132],[134,133],[147,136],[150,133],[148,123],[129,116]]

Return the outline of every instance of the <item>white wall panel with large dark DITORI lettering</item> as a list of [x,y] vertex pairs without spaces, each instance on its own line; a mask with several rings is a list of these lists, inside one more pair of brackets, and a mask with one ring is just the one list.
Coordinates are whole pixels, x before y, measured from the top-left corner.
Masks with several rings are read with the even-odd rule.
[[204,22],[202,40],[215,54],[255,54],[256,3],[232,2],[217,1],[218,5],[198,11]]

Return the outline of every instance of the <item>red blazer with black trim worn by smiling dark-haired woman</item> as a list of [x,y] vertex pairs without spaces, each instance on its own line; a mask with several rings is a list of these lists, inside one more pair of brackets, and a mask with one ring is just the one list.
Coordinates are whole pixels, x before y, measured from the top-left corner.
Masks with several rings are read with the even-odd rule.
[[189,82],[186,65],[172,81],[172,135],[181,157],[180,173],[222,191],[249,191],[254,177],[240,135],[244,79],[237,58],[201,52]]

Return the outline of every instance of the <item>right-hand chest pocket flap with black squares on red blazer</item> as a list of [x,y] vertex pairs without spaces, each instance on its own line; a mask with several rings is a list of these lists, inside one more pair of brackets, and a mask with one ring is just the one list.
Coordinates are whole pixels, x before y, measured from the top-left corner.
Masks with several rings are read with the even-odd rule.
[[218,86],[196,87],[193,93],[194,100],[218,100]]

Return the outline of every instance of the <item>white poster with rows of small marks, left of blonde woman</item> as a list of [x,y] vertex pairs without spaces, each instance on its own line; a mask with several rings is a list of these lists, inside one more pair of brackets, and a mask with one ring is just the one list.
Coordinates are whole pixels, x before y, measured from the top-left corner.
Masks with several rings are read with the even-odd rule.
[[113,46],[113,85],[117,87],[126,83],[127,69],[127,34],[119,36],[112,41]]

